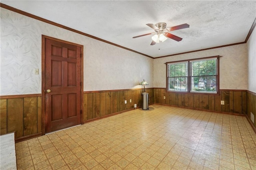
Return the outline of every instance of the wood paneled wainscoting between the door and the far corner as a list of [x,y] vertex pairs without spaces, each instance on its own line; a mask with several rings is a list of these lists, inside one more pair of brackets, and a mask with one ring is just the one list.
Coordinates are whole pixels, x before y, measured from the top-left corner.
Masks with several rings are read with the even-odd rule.
[[[137,107],[142,107],[142,92],[143,89],[85,91],[82,122],[86,123],[100,117],[134,109],[134,104],[137,104]],[[146,92],[148,93],[148,103],[154,103],[154,89],[148,88]],[[125,100],[127,104],[124,104]]]

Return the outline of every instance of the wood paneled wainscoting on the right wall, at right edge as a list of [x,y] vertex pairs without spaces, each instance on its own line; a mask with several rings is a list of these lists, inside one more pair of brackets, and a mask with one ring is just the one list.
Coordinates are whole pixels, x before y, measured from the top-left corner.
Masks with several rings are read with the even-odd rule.
[[[254,115],[254,123],[251,121],[251,113]],[[256,93],[247,91],[247,118],[256,132]]]

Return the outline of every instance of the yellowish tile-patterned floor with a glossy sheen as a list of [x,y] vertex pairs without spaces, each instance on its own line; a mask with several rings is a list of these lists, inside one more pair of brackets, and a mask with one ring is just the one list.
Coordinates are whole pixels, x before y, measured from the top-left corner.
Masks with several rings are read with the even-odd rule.
[[245,117],[151,105],[16,143],[23,169],[256,169]]

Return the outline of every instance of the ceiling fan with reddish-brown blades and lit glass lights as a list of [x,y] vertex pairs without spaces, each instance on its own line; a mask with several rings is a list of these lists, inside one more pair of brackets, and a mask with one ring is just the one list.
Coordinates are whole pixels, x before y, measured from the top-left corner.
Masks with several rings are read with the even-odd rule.
[[179,42],[182,40],[182,38],[175,36],[173,34],[170,34],[168,32],[174,31],[174,30],[180,30],[180,29],[184,29],[184,28],[189,28],[188,24],[181,24],[178,26],[166,28],[166,23],[164,23],[164,22],[159,22],[157,24],[146,24],[146,25],[149,26],[150,28],[153,28],[155,30],[155,32],[143,34],[140,36],[135,36],[133,38],[138,38],[138,37],[154,34],[154,36],[152,36],[153,41],[151,42],[150,45],[155,45],[156,43],[159,43],[159,41],[164,42],[165,40],[167,40],[167,38],[171,38],[172,40]]

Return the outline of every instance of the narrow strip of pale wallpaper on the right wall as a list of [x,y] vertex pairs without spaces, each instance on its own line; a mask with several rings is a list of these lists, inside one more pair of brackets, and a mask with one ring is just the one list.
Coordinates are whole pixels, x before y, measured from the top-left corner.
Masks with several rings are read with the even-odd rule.
[[256,28],[252,32],[248,42],[248,87],[249,91],[256,93]]

